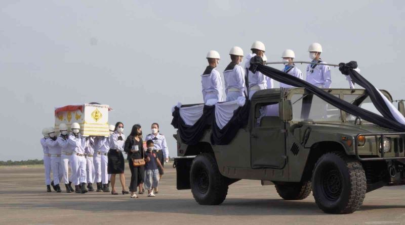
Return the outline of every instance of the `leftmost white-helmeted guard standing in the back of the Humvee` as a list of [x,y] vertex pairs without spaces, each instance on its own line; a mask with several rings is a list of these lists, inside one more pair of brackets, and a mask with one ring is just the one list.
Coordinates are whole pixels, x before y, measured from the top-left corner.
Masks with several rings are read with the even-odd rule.
[[203,86],[204,103],[209,99],[222,101],[222,81],[221,75],[215,69],[220,60],[218,51],[211,50],[207,53],[208,66],[201,75],[201,85]]

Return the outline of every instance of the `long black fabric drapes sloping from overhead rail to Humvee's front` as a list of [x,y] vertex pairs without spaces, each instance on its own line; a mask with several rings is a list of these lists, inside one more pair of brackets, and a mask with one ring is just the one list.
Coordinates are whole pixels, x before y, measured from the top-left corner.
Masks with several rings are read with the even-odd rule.
[[[256,71],[259,71],[262,74],[264,74],[265,76],[270,77],[278,82],[292,85],[295,87],[305,88],[306,90],[315,94],[322,100],[334,105],[337,108],[340,108],[340,109],[346,111],[347,113],[349,113],[353,116],[360,117],[361,119],[367,120],[371,123],[377,124],[382,127],[386,127],[386,128],[393,129],[396,131],[405,131],[405,126],[402,125],[401,123],[398,123],[397,121],[393,120],[392,115],[390,117],[382,117],[380,115],[372,113],[369,110],[366,110],[366,109],[360,108],[356,105],[353,105],[353,104],[351,104],[343,99],[340,99],[339,97],[336,97],[304,80],[291,76],[290,74],[284,73],[277,69],[263,65],[263,60],[261,57],[252,58],[250,61],[250,65],[251,65],[251,67],[249,68],[249,70],[252,71],[253,73],[256,73]],[[366,91],[368,92],[368,94],[373,92],[372,90],[373,90],[374,86],[372,86],[370,84],[373,88],[369,87],[367,85],[367,84],[369,84],[369,82],[366,79],[364,79],[361,76],[357,76],[358,73],[356,71],[353,71],[353,69],[351,69],[351,68],[346,68],[346,69],[348,70],[348,73],[350,75],[353,74],[354,81],[356,83],[360,84],[361,82],[363,82],[360,85],[365,85],[365,88],[366,88]],[[382,98],[381,98],[381,100],[378,100],[379,98],[375,97],[375,99],[377,99],[375,101],[378,101],[375,104],[385,104],[384,101],[382,100]],[[381,110],[382,106],[380,108],[379,107],[377,107],[377,109]],[[382,110],[382,112],[381,112],[382,115],[385,114],[384,111],[385,110]]]

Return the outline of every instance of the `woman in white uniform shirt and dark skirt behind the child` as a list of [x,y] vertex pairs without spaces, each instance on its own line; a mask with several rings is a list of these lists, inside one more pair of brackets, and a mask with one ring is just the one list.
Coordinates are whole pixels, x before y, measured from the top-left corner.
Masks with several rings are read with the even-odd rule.
[[[159,178],[164,174],[163,167],[165,166],[165,161],[169,161],[169,149],[166,143],[166,137],[159,133],[159,124],[153,123],[151,126],[152,133],[148,134],[145,138],[146,141],[153,141],[153,151],[156,153],[156,158],[159,159],[161,167],[157,167],[159,170]],[[160,180],[159,179],[159,180]],[[157,187],[154,187],[155,194],[158,193]]]

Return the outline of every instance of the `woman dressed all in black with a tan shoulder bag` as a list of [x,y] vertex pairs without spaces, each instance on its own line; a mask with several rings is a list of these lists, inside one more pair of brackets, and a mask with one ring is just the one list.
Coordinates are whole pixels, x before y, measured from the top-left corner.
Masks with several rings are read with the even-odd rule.
[[145,169],[144,166],[134,166],[132,159],[142,159],[144,158],[144,149],[142,141],[142,128],[141,125],[135,124],[132,127],[130,136],[128,136],[125,141],[124,150],[127,152],[128,164],[131,170],[131,183],[130,192],[131,198],[138,198],[135,194],[137,186],[139,187],[139,194],[143,194],[142,184],[145,179]]

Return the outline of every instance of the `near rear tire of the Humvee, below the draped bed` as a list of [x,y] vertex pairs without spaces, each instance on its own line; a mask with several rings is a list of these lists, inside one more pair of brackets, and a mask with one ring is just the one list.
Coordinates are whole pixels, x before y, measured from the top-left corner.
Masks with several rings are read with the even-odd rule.
[[203,153],[194,158],[190,169],[190,187],[195,201],[200,205],[219,205],[225,200],[228,185],[212,154]]

